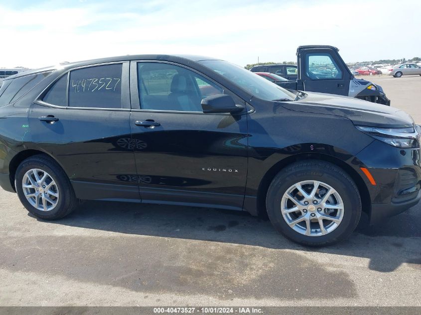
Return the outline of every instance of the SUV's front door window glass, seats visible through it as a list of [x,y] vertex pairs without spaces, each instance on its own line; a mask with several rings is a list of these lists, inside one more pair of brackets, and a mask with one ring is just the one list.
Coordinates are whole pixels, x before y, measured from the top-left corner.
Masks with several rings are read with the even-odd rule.
[[[255,74],[253,74],[255,75]],[[138,63],[139,101],[142,109],[202,111],[204,98],[223,89],[197,73],[166,63]]]

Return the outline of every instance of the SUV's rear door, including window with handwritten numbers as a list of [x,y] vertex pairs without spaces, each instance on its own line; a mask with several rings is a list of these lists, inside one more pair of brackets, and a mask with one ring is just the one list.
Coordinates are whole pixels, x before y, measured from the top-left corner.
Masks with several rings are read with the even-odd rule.
[[64,73],[31,105],[29,136],[78,198],[140,202],[129,121],[129,62],[91,65]]

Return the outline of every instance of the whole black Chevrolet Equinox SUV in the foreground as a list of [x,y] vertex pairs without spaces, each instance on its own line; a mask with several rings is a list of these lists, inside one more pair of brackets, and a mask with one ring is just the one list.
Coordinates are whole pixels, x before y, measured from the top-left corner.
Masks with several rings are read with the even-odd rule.
[[41,219],[78,200],[267,214],[290,239],[344,239],[421,197],[420,127],[393,107],[287,91],[198,56],[44,68],[0,89],[0,185]]

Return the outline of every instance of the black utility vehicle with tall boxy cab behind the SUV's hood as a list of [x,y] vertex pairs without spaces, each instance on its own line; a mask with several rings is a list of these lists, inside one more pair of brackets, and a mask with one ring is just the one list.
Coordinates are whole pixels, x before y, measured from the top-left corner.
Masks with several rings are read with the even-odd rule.
[[[351,73],[338,53],[327,45],[307,45],[297,48],[297,79],[276,82],[285,89],[349,96],[390,106],[381,86]],[[256,67],[251,69],[258,72]]]

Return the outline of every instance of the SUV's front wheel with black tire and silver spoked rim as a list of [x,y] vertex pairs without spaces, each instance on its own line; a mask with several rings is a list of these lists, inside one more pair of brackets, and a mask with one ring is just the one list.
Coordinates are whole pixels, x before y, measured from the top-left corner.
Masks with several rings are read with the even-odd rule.
[[[307,183],[311,181],[320,182],[320,184],[318,184],[318,192],[315,196],[316,202],[320,202],[324,196],[330,195],[320,195],[328,186],[330,186],[333,188],[333,190],[330,191],[334,191],[334,193],[328,197],[325,205],[329,204],[333,207],[336,201],[337,207],[342,207],[342,209],[333,210],[332,213],[326,213],[325,211],[332,211],[332,209],[322,210],[322,208],[318,207],[320,204],[312,205],[312,202],[309,201],[307,206],[303,206],[307,209],[282,214],[281,209],[284,207],[284,201],[286,200],[285,208],[287,208],[288,203],[292,202],[289,197],[285,198],[285,194],[289,192],[290,189],[295,189],[293,187],[294,184],[303,182]],[[312,187],[314,188],[314,186],[315,185]],[[308,190],[310,188],[310,184],[301,186],[301,189]],[[296,191],[298,192],[298,190]],[[308,193],[308,191],[306,192]],[[295,197],[299,198],[300,193],[296,194]],[[329,200],[331,201],[329,202]],[[300,202],[304,203],[304,199]],[[293,209],[295,206],[296,203],[292,203],[289,210]],[[324,161],[308,160],[293,163],[281,170],[281,172],[275,176],[268,189],[266,208],[269,219],[274,227],[290,240],[307,246],[325,246],[346,239],[354,231],[361,216],[361,198],[357,186],[348,174],[346,174],[341,168]],[[305,211],[305,213],[303,211]],[[326,215],[334,218],[335,220],[341,217],[341,220],[339,223],[334,222],[333,220],[330,221],[326,219]],[[310,222],[309,229],[311,235],[305,235],[308,230],[308,221],[301,221],[294,224],[294,226],[290,226],[294,219],[304,216],[312,220]],[[324,233],[322,233],[322,228],[319,223],[318,218],[320,217]],[[289,220],[289,218],[291,218],[291,220]],[[289,224],[287,223],[287,220],[289,221]]]

